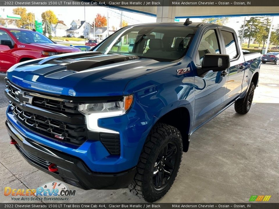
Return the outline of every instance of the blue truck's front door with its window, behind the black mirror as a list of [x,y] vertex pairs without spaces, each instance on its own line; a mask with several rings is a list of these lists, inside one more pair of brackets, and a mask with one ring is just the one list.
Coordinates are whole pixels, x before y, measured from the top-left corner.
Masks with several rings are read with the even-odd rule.
[[[195,57],[197,67],[201,67],[203,56],[206,53],[221,53],[218,39],[220,39],[220,36],[215,29],[206,30],[203,33]],[[227,76],[221,76],[221,73],[208,71],[201,76],[195,77],[195,116],[193,130],[223,109]]]

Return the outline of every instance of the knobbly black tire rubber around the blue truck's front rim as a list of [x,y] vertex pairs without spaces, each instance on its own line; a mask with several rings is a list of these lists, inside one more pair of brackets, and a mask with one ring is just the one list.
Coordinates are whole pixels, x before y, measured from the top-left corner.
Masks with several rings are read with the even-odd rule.
[[[159,190],[153,183],[153,172],[157,166],[163,147],[168,147],[169,143],[173,143],[176,147],[174,169],[165,185]],[[160,152],[159,152],[160,151]],[[147,202],[154,202],[163,197],[171,185],[174,183],[182,158],[182,137],[178,129],[173,126],[157,123],[151,129],[146,138],[146,142],[140,154],[139,162],[136,167],[136,174],[133,182],[129,185],[132,194]],[[165,166],[165,165],[164,165]],[[164,169],[163,169],[164,170]]]

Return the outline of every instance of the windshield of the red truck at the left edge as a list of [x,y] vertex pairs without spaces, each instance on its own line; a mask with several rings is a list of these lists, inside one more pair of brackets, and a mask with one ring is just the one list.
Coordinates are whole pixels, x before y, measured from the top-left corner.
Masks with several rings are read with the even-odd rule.
[[24,44],[53,44],[49,38],[42,33],[29,30],[10,30],[10,32],[16,37],[16,39]]

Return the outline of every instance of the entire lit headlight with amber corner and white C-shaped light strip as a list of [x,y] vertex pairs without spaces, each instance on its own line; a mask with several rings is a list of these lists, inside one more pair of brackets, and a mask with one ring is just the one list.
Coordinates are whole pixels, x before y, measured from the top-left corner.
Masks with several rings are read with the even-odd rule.
[[[133,95],[124,96],[123,101],[101,102],[78,105],[78,110],[86,117],[87,128],[91,131],[118,133],[98,126],[99,118],[107,118],[125,114],[133,103]],[[119,134],[119,133],[118,133]]]

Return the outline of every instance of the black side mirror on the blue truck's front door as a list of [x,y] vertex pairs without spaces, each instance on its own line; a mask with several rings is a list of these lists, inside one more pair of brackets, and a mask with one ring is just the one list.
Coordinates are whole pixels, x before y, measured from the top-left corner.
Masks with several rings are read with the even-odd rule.
[[224,54],[205,54],[201,68],[203,71],[224,71],[230,67],[230,56]]

